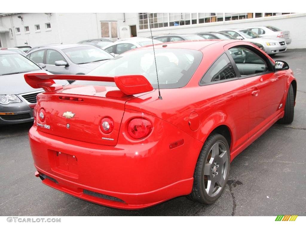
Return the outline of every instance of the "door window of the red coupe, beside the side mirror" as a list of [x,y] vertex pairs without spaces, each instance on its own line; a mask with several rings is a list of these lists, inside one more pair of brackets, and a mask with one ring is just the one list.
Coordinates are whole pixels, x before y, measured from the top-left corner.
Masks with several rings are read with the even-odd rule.
[[255,52],[245,47],[229,49],[242,77],[268,71],[267,63]]

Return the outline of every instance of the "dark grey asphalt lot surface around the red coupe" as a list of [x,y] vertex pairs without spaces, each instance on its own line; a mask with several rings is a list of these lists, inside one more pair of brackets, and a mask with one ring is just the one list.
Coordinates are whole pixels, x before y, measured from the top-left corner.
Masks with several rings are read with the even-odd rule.
[[294,121],[273,125],[231,164],[221,198],[201,205],[177,197],[128,211],[52,189],[34,176],[28,143],[32,124],[0,127],[0,216],[277,216],[306,215],[306,50],[274,56],[297,78]]

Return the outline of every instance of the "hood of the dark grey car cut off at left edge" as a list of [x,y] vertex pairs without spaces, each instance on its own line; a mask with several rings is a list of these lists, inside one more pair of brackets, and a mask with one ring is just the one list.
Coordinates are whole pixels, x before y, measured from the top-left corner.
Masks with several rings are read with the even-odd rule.
[[[47,73],[48,75],[52,75],[50,72],[47,72],[45,70],[29,71],[13,75],[0,75],[0,94],[18,95],[18,94],[43,90],[42,88],[32,88],[30,85],[27,84],[27,82],[25,82],[24,74],[28,73]],[[65,85],[67,84],[67,81],[56,80],[56,83]]]

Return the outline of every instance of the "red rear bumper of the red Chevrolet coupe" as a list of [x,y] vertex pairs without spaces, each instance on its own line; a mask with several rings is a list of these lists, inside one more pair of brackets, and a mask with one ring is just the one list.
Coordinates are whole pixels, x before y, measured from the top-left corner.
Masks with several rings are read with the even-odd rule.
[[[170,132],[173,128],[164,126]],[[29,140],[34,165],[46,177],[44,184],[101,205],[141,209],[191,192],[197,152],[203,143],[181,134],[186,144],[171,150],[169,144],[162,147],[162,141],[122,145],[120,137],[115,147],[84,143],[43,133],[35,126]],[[67,161],[70,164],[63,169],[56,162],[58,152],[76,161]]]

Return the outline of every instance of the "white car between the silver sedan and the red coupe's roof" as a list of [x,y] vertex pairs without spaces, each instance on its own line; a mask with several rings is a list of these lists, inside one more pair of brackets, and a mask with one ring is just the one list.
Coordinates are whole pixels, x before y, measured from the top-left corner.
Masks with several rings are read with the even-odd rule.
[[[160,44],[162,42],[153,39],[154,44]],[[151,45],[152,39],[150,38],[128,38],[128,39],[121,39],[112,44],[106,45],[103,49],[109,53],[113,53],[115,56],[125,53],[131,49],[140,48],[145,45]]]

